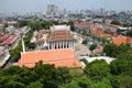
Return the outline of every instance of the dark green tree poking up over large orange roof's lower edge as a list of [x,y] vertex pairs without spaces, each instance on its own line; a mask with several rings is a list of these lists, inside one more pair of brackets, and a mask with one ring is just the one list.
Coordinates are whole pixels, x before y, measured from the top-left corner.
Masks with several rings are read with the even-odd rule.
[[35,68],[35,78],[44,82],[43,88],[57,88],[58,87],[58,72],[54,65],[37,63]]

